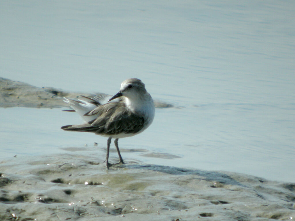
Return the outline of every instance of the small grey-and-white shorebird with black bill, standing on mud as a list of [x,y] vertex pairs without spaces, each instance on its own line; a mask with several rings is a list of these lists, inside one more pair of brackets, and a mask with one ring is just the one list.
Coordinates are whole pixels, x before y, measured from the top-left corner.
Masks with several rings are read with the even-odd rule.
[[109,148],[115,138],[119,163],[124,163],[119,151],[118,139],[134,136],[144,131],[153,122],[155,105],[145,89],[145,84],[137,78],[124,80],[120,91],[114,96],[101,94],[84,99],[64,98],[86,123],[62,126],[65,131],[92,132],[108,137],[106,168],[109,163]]

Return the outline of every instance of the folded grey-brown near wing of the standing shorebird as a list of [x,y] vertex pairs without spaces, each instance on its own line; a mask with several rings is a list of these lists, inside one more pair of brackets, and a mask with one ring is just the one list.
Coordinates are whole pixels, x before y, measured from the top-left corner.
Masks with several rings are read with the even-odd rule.
[[144,118],[127,110],[121,102],[106,103],[85,115],[96,115],[97,118],[88,123],[63,126],[62,129],[111,136],[119,133],[137,133],[144,125]]

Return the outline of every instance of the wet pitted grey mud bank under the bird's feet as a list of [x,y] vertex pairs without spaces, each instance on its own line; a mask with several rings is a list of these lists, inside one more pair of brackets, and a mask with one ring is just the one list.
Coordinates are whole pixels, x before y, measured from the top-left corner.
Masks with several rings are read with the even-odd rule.
[[[114,160],[114,159],[112,159]],[[289,220],[295,185],[245,174],[81,155],[0,166],[0,220]]]

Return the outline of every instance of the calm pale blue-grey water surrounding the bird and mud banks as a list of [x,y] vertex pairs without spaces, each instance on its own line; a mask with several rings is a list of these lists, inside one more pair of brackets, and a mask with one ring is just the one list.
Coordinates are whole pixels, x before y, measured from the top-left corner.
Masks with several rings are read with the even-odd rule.
[[[295,182],[294,1],[1,1],[0,12],[1,77],[108,94],[138,77],[178,107],[119,146],[181,158],[123,158]],[[3,157],[106,144],[61,131],[81,121],[58,109],[0,111]]]

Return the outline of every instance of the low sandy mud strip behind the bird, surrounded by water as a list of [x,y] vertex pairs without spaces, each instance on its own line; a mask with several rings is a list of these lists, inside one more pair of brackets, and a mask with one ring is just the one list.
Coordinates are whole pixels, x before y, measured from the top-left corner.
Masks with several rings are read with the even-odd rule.
[[[97,93],[99,94],[99,93]],[[68,92],[52,87],[38,88],[27,83],[0,77],[0,107],[30,107],[30,108],[60,108],[68,107],[63,97],[76,98],[80,95],[90,96],[89,93]],[[155,100],[156,108],[173,107]]]

